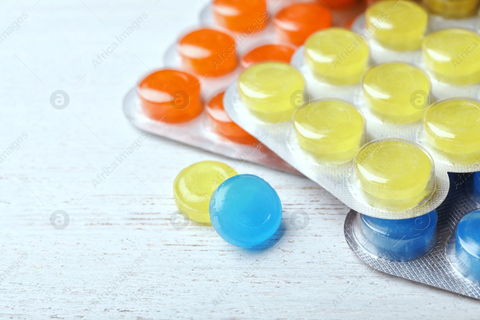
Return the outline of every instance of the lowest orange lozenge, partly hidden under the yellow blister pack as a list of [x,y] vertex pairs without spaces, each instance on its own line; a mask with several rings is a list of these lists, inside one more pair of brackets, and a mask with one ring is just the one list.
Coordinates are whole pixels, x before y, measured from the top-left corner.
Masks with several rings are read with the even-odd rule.
[[206,105],[208,117],[212,124],[212,130],[230,141],[252,144],[257,140],[253,138],[247,131],[241,129],[235,122],[228,117],[227,112],[223,108],[223,95],[221,92],[214,96]]

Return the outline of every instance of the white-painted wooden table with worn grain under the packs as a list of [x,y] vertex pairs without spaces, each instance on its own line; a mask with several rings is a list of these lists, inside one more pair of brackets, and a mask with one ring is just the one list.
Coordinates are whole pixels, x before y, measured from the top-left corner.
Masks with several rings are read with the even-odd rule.
[[[0,43],[0,319],[478,319],[478,300],[364,265],[343,235],[349,209],[307,178],[237,168],[284,205],[276,237],[255,250],[212,227],[170,224],[180,169],[230,159],[150,136],[94,187],[141,135],[123,96],[161,67],[202,1],[1,2],[0,32],[28,16]],[[113,52],[95,68],[102,49]],[[56,90],[70,97],[64,109],[50,104]],[[310,222],[296,230],[289,217],[300,209]],[[68,213],[64,229],[50,224],[56,210]]]

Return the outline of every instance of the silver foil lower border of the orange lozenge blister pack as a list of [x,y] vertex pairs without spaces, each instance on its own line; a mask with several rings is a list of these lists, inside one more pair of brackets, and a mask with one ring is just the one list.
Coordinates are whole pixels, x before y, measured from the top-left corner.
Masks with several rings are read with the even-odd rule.
[[253,145],[231,142],[217,136],[210,130],[209,119],[204,111],[195,119],[183,123],[165,123],[150,119],[142,111],[136,87],[125,95],[122,107],[129,122],[140,130],[242,162],[249,161],[301,175],[261,142],[256,143],[258,148],[255,148]]

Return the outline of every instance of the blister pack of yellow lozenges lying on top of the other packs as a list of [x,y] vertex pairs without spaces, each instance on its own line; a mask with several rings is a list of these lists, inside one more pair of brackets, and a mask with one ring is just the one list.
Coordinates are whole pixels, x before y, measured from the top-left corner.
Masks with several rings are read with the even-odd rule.
[[[393,24],[390,38],[376,33],[382,29],[372,37],[413,56],[415,50],[405,47],[420,50],[430,43],[431,35],[424,36],[428,15],[412,1],[397,2],[368,8],[376,21]],[[412,10],[425,15],[420,36],[413,36],[418,25],[409,26],[413,31],[405,25]],[[476,39],[465,32],[456,46],[442,37],[433,41],[420,50],[423,58],[458,58],[452,52]],[[243,71],[224,96],[225,109],[253,136],[268,136],[264,143],[271,150],[357,212],[384,219],[432,212],[448,193],[447,172],[480,170],[480,91],[465,97],[466,85],[458,83],[478,86],[480,49],[456,74],[444,76],[448,89],[441,91],[451,95],[438,99],[429,72],[413,60],[372,64],[366,40],[346,29],[321,30],[291,65],[268,62]],[[296,63],[299,57],[304,65]],[[440,64],[434,66],[442,69]]]

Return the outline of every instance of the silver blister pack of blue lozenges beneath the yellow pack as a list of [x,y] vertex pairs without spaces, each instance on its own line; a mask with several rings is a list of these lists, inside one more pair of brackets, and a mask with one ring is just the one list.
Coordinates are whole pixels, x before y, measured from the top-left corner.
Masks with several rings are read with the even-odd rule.
[[467,192],[478,173],[449,175],[450,191],[436,212],[383,220],[352,210],[345,238],[376,270],[480,299],[480,203]]

